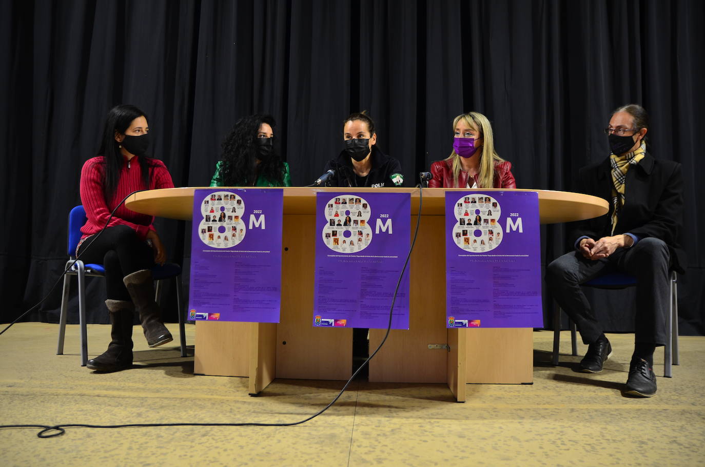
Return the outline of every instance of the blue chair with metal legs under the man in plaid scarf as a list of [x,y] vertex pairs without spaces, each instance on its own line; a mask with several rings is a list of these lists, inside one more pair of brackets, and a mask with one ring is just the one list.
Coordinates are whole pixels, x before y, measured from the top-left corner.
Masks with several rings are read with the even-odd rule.
[[[624,272],[603,274],[583,286],[595,289],[626,289],[637,285],[637,278]],[[560,344],[560,307],[553,313],[553,365],[558,365],[558,346]],[[575,322],[568,318],[570,326],[570,344],[572,355],[577,356],[577,337]],[[671,365],[678,365],[678,280],[675,271],[670,272],[670,303],[666,319],[666,345],[663,346],[663,376],[670,378]]]

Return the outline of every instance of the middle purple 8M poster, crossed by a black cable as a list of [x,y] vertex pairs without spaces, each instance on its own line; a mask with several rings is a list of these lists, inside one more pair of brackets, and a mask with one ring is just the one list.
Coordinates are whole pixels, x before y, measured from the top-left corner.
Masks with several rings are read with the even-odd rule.
[[[313,325],[386,329],[410,246],[410,193],[318,193]],[[392,316],[409,329],[409,267]]]

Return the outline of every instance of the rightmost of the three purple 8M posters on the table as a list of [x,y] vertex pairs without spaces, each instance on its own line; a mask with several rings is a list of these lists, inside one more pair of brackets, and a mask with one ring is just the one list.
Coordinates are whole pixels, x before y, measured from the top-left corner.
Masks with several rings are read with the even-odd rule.
[[542,327],[539,195],[446,192],[447,327]]

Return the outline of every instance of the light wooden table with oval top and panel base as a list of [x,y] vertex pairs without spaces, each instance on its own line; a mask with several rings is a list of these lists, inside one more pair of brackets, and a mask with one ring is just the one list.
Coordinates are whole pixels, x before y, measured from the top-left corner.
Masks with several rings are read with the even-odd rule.
[[[130,196],[125,205],[143,214],[190,220],[193,193],[199,188],[213,189],[142,191]],[[347,380],[352,375],[352,329],[311,325],[316,193],[384,191],[284,188],[280,322],[197,322],[195,372],[250,377],[250,394],[262,391],[274,377]],[[411,193],[411,223],[415,226],[419,188],[389,191]],[[410,329],[392,330],[384,348],[369,362],[369,380],[447,383],[455,398],[465,401],[466,383],[532,382],[533,339],[531,328],[446,329],[446,191],[510,190],[424,188],[419,236],[410,261]],[[606,200],[590,195],[516,191],[538,193],[541,224],[589,219],[608,212]],[[371,349],[376,348],[385,332],[370,329]],[[447,344],[450,351],[429,348],[429,344]]]

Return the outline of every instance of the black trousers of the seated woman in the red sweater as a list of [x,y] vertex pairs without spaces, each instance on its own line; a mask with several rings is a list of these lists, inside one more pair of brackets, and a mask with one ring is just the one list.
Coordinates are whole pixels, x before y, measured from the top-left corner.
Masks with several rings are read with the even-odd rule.
[[123,277],[154,266],[152,247],[124,225],[108,227],[97,238],[87,238],[78,248],[78,254],[84,263],[105,267],[105,286],[110,300],[129,301]]

